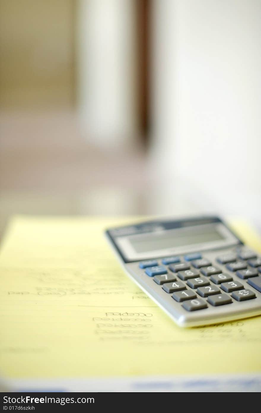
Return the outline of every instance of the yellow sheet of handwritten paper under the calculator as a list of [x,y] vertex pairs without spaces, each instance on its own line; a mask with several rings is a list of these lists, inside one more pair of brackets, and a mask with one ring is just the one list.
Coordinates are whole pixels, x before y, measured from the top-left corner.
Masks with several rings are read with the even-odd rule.
[[[179,328],[129,280],[103,230],[131,221],[12,220],[0,254],[2,377],[261,371],[261,317]],[[261,251],[247,224],[233,227]]]

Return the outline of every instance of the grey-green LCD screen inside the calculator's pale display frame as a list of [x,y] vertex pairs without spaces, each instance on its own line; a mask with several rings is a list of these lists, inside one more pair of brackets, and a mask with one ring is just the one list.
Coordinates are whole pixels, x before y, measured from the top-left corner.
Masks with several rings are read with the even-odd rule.
[[224,237],[215,228],[204,228],[200,226],[198,228],[190,228],[190,230],[186,228],[181,230],[168,230],[164,233],[134,236],[130,237],[129,241],[134,251],[140,253],[223,239]]

